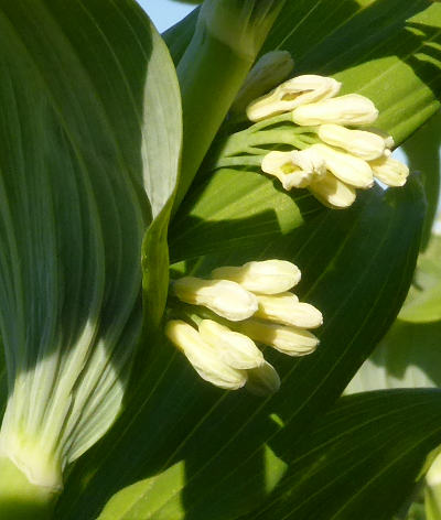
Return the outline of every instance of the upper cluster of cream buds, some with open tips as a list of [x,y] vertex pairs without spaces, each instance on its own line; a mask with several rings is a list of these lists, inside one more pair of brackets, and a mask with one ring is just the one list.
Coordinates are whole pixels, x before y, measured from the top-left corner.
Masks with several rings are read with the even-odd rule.
[[[330,77],[299,76],[247,108],[248,118],[263,128],[265,121],[267,128],[272,121],[294,123],[284,134],[292,133],[295,148],[266,153],[261,170],[278,177],[284,189],[308,187],[334,208],[351,206],[356,189],[372,187],[374,177],[388,186],[402,186],[409,175],[408,167],[390,156],[392,138],[368,128],[378,117],[372,100],[358,94],[337,96],[341,86]],[[279,136],[283,144],[289,142]]]

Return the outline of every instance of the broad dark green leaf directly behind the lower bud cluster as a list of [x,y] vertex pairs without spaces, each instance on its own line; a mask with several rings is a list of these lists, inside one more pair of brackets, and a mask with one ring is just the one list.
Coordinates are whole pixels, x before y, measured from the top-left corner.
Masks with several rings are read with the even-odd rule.
[[[261,400],[209,387],[170,345],[158,344],[144,387],[110,434],[76,465],[57,518],[96,518],[116,491],[155,476],[168,479],[159,476],[181,462],[185,481],[174,483],[173,496],[154,512],[159,518],[168,511],[173,519],[227,520],[263,501],[286,472],[295,447],[292,438],[309,433],[398,312],[413,271],[422,216],[421,191],[410,182],[404,189],[369,191],[347,212],[323,210],[298,229],[275,232],[265,248],[260,241],[189,259],[187,269],[197,272],[213,263],[258,258],[298,263],[304,274],[300,297],[325,316],[319,350],[298,360],[268,353],[282,388]],[[213,250],[209,243],[207,249]],[[181,247],[178,254],[185,258]],[[172,241],[171,256],[178,254]],[[141,496],[146,488],[137,485]],[[148,494],[144,500],[141,496],[130,500],[148,508]]]

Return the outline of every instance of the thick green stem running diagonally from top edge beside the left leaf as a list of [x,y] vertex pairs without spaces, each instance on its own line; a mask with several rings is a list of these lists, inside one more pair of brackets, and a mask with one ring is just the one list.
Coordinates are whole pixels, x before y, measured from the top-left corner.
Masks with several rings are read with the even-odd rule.
[[284,0],[207,0],[178,65],[184,118],[181,203]]

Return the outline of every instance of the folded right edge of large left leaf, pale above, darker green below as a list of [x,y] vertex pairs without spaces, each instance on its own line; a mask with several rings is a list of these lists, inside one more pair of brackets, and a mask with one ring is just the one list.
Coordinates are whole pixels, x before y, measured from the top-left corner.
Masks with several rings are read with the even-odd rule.
[[[143,185],[153,216],[142,243],[143,347],[148,346],[148,336],[154,334],[165,308],[169,291],[168,227],[182,149],[182,108],[176,73],[161,36],[153,32],[152,39],[142,131]],[[144,353],[140,356],[142,358]]]

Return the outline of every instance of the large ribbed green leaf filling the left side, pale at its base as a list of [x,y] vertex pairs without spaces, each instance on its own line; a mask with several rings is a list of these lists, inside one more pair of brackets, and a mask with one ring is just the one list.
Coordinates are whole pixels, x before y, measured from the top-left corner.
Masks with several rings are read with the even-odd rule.
[[130,375],[141,243],[176,181],[178,83],[129,0],[0,0],[0,43],[2,435],[64,466]]

